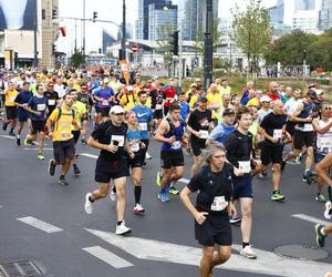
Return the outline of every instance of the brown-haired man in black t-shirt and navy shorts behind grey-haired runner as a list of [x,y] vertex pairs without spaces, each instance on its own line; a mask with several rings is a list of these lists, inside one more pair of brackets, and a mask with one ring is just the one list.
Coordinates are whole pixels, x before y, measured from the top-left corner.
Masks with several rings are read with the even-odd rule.
[[[240,168],[243,176],[234,176],[234,196],[235,201],[239,199],[241,206],[241,234],[242,249],[240,254],[247,258],[257,258],[256,253],[250,246],[250,235],[252,225],[252,178],[250,155],[252,153],[252,134],[249,133],[252,119],[247,106],[240,106],[237,110],[236,120],[237,130],[231,133],[224,145],[227,150],[227,160],[236,167]],[[256,162],[257,163],[257,162]]]

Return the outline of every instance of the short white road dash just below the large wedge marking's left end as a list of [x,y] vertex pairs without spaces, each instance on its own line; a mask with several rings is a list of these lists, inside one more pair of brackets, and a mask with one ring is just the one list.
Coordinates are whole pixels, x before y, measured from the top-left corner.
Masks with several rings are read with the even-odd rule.
[[82,249],[115,268],[125,268],[134,266],[132,263],[123,259],[122,257],[116,256],[112,252],[108,252],[100,246],[86,247]]

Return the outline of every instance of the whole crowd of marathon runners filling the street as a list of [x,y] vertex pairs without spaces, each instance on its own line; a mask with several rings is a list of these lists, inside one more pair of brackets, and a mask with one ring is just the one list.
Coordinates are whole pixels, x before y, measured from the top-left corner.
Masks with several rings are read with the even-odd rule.
[[[185,91],[177,78],[142,80],[139,73],[132,74],[131,83],[125,85],[115,70],[2,71],[2,130],[18,146],[38,144],[38,160],[44,160],[44,141],[52,140],[49,173],[53,176],[61,167],[60,185],[69,185],[71,167],[80,174],[76,143],[100,150],[94,176],[98,188],[86,194],[84,209],[92,214],[93,203],[110,194],[117,202],[118,235],[132,230],[124,220],[127,177],[134,183],[133,212],[143,214],[142,175],[152,158],[149,142],[160,142],[156,197],[167,203],[169,194],[179,194],[195,217],[195,235],[204,247],[200,276],[211,276],[212,267],[230,257],[230,224],[240,224],[240,254],[257,258],[250,245],[253,177],[271,175],[270,199],[282,202],[282,172],[288,163],[304,160],[301,179],[317,183],[312,199],[324,203],[325,218],[332,217],[332,105],[318,84],[301,91],[278,82],[255,88],[248,81],[236,92],[228,80],[216,79],[205,91],[197,78]],[[28,134],[21,137],[24,126]],[[184,155],[194,163],[191,178],[179,192]],[[196,205],[189,198],[194,192]],[[332,225],[315,226],[320,247],[331,232]],[[219,247],[214,255],[215,245]]]

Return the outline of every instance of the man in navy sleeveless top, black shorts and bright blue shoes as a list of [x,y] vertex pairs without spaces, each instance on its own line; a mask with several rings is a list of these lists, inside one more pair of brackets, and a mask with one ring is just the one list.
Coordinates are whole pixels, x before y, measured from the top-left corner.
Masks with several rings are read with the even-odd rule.
[[173,103],[168,116],[165,117],[156,132],[156,140],[162,142],[160,163],[163,174],[157,173],[157,184],[160,185],[158,198],[169,202],[168,192],[178,194],[175,184],[184,176],[185,162],[181,144],[186,144],[186,123],[180,119],[180,106]]

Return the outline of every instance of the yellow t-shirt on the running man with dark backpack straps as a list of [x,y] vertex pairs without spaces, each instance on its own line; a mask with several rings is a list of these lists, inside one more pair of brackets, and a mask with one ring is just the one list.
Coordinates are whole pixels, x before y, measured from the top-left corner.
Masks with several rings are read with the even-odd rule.
[[61,107],[61,111],[62,112],[60,119],[58,119],[59,117],[58,107],[50,115],[50,120],[54,124],[53,142],[65,142],[73,138],[72,125],[76,121],[76,119],[73,119],[72,109],[65,110],[64,107]]

